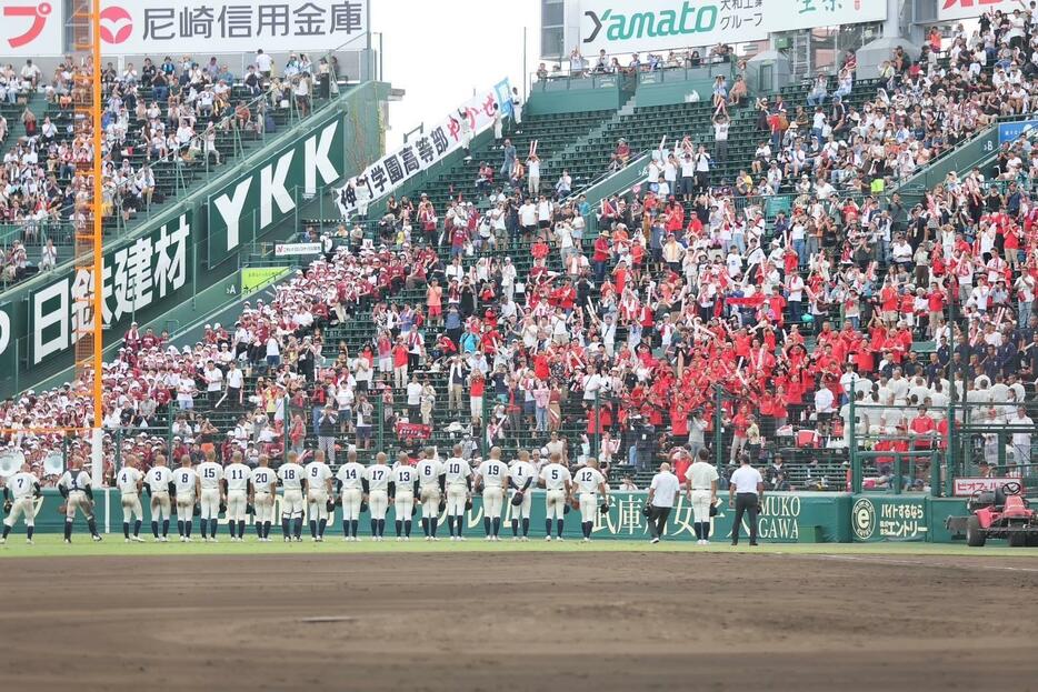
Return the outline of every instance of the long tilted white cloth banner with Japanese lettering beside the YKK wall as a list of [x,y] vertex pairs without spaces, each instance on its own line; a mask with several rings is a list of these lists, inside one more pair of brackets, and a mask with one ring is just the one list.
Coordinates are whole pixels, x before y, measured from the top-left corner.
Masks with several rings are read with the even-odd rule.
[[492,88],[479,92],[448,113],[417,140],[386,154],[365,169],[360,175],[351,178],[336,195],[339,211],[343,217],[349,215],[357,209],[358,200],[370,201],[382,197],[413,175],[435,166],[447,154],[460,149],[466,136],[462,117],[467,120],[468,128],[475,137],[493,124],[495,106],[501,109],[502,117],[511,112],[511,101],[508,98],[510,91],[511,87],[505,79]]

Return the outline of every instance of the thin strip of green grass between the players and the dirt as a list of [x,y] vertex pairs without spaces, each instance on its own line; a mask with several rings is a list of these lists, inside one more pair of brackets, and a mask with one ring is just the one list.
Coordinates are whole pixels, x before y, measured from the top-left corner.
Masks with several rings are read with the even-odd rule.
[[202,543],[196,539],[192,543],[180,543],[176,538],[169,543],[154,543],[151,538],[147,543],[124,543],[119,534],[110,534],[100,543],[94,543],[86,534],[73,536],[71,545],[66,545],[58,534],[36,536],[34,545],[27,545],[24,534],[11,534],[4,545],[0,545],[0,559],[3,558],[52,558],[52,556],[98,556],[98,555],[285,555],[303,554],[349,554],[349,553],[450,553],[450,552],[690,552],[690,553],[732,553],[752,552],[789,555],[970,555],[975,558],[1011,556],[1038,559],[1038,548],[1008,548],[988,545],[969,548],[962,543],[761,543],[751,548],[745,542],[738,548],[716,542],[710,545],[696,545],[688,541],[663,541],[651,545],[648,541],[598,540],[592,543],[567,539],[563,542],[543,539],[530,539],[529,542],[513,542],[502,536],[499,543],[489,543],[481,536],[470,535],[465,542],[451,542],[441,539],[432,543],[421,536],[398,543],[395,538],[386,538],[382,543],[375,543],[370,538],[348,543],[340,535],[326,538],[323,543],[312,543],[305,538],[302,543],[285,543],[280,539],[271,543],[259,543],[249,536],[243,543],[232,543],[227,535],[219,543]]

